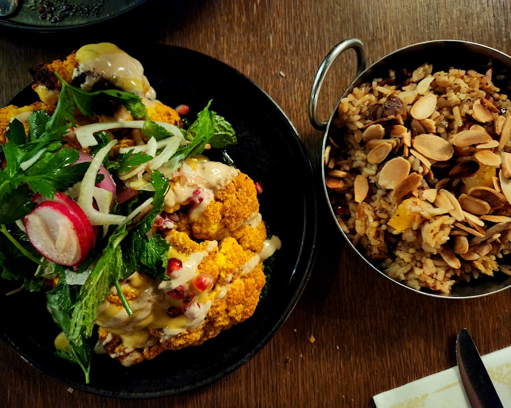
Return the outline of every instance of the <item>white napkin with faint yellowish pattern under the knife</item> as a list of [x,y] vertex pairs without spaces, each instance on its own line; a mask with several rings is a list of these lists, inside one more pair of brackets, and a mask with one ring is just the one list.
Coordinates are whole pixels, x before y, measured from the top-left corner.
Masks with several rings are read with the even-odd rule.
[[[502,404],[511,407],[511,347],[482,356]],[[373,397],[377,408],[470,408],[458,367],[417,379]]]

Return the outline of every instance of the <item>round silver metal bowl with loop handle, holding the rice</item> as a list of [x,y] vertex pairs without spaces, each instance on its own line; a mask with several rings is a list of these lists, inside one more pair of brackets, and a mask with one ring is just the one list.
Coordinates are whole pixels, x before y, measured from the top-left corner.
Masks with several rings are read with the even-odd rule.
[[[326,74],[331,67],[335,59],[341,55],[346,49],[353,48],[357,55],[357,74],[353,82],[345,89],[342,95],[339,97],[337,104],[335,105],[333,112],[328,122],[323,122],[318,117],[317,102],[321,86]],[[371,82],[375,78],[388,78],[389,69],[396,72],[398,80],[403,72],[412,72],[417,67],[424,63],[433,64],[433,71],[449,70],[451,67],[459,69],[474,69],[478,72],[486,72],[487,69],[492,67],[494,74],[492,75],[493,83],[500,88],[500,92],[503,94],[511,95],[511,57],[500,51],[472,43],[467,41],[456,41],[456,40],[436,40],[417,43],[398,49],[393,53],[388,54],[382,59],[376,61],[374,64],[366,67],[365,62],[365,51],[363,43],[358,39],[347,39],[337,44],[330,53],[324,58],[320,65],[316,77],[314,79],[311,93],[309,97],[309,118],[311,124],[320,131],[324,131],[324,139],[322,146],[321,155],[321,174],[323,181],[324,194],[327,197],[327,201],[332,213],[332,217],[339,226],[339,231],[344,236],[349,245],[353,250],[362,257],[365,262],[370,265],[371,268],[375,269],[383,276],[391,279],[391,281],[398,283],[399,285],[408,288],[414,292],[422,293],[433,297],[447,297],[447,298],[473,298],[489,295],[492,293],[500,292],[509,286],[511,286],[511,276],[506,275],[502,272],[496,272],[494,276],[482,276],[478,279],[471,279],[469,283],[456,283],[453,285],[452,290],[449,294],[439,293],[426,288],[421,290],[414,289],[404,282],[394,280],[388,276],[383,268],[381,262],[368,259],[364,255],[364,248],[355,246],[352,241],[346,236],[341,230],[341,227],[336,219],[334,208],[332,207],[331,200],[329,197],[329,189],[326,185],[326,172],[323,165],[323,156],[327,146],[329,146],[329,136],[335,131],[338,132],[337,127],[333,123],[334,118],[337,114],[337,106],[340,104],[341,99],[349,94],[355,87],[360,86],[365,82]],[[403,77],[404,79],[404,77]],[[396,83],[399,83],[399,81]]]

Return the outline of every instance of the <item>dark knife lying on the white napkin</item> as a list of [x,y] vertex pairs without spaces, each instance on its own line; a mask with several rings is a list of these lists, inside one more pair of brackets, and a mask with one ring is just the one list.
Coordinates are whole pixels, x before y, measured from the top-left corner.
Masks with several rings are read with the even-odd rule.
[[461,383],[472,408],[503,408],[490,375],[466,328],[456,339],[456,360]]

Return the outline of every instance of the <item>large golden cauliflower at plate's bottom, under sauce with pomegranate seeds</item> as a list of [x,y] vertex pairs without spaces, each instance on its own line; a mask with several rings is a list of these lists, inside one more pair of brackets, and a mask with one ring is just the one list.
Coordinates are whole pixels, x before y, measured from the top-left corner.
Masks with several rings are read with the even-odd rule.
[[[179,232],[171,234],[167,240],[172,245],[172,254],[180,254],[184,257],[190,257],[193,253],[201,252],[209,246],[208,242],[198,243],[188,235]],[[255,262],[251,263],[254,260]],[[109,331],[105,327],[100,327],[99,339],[106,351],[122,364],[129,366],[143,360],[153,359],[164,350],[177,350],[200,345],[217,336],[221,330],[228,329],[252,316],[259,302],[261,290],[266,283],[263,265],[257,254],[249,249],[244,249],[231,237],[225,238],[215,250],[208,252],[199,263],[197,274],[209,274],[213,279],[211,289],[203,293],[196,292],[193,296],[189,295],[191,298],[199,297],[203,304],[208,301],[212,302],[205,315],[204,323],[167,338],[164,329],[151,325],[151,319],[146,321],[147,326],[144,327],[141,322],[133,320],[136,319],[136,313],[131,318],[126,315],[126,321],[122,323],[122,327],[136,327],[136,339],[144,339],[143,347],[133,347],[132,345],[130,347],[129,335],[131,333],[118,335],[115,334],[115,329]],[[138,296],[145,296],[148,293],[148,278],[143,274],[136,273],[129,279],[132,280],[132,285],[135,287],[132,288],[123,282],[123,293],[130,304],[136,304]],[[137,284],[137,282],[144,284]],[[158,286],[158,282],[156,280],[156,283],[151,286],[153,288]],[[188,291],[190,290],[193,291],[193,288],[188,289]],[[122,312],[122,304],[117,292],[114,289],[112,292],[114,293],[107,297],[101,309],[107,311],[114,318],[118,318]],[[165,299],[161,299],[161,296],[158,297],[161,303],[155,305],[155,308],[167,307],[168,300],[165,299],[172,297],[169,296],[169,293]],[[175,301],[175,299],[171,301]],[[182,301],[188,301],[188,297]],[[161,312],[166,314],[165,310],[158,312],[153,309],[149,316],[161,316]],[[146,316],[146,314],[143,315]],[[183,315],[179,315],[173,318],[167,317],[167,319],[182,319],[182,317]],[[158,318],[157,324],[160,319],[161,317]],[[107,326],[108,323],[104,325]],[[126,336],[127,334],[128,336]]]

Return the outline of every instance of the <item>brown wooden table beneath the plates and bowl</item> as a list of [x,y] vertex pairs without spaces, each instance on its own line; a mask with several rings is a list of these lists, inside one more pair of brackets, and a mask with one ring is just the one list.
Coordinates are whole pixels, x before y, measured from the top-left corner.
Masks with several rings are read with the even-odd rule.
[[[511,12],[504,0],[153,1],[78,32],[0,31],[0,104],[29,82],[29,67],[84,43],[179,45],[233,66],[269,93],[319,168],[322,134],[309,123],[307,103],[316,70],[336,43],[360,38],[369,63],[433,39],[474,41],[509,54],[509,27]],[[324,119],[355,73],[354,56],[345,53],[329,72],[320,97]],[[303,296],[271,341],[235,372],[187,394],[114,400],[68,391],[1,343],[0,402],[76,408],[372,407],[377,393],[453,367],[461,327],[471,331],[481,353],[511,344],[510,291],[448,300],[401,288],[354,256],[319,197],[317,261]]]

